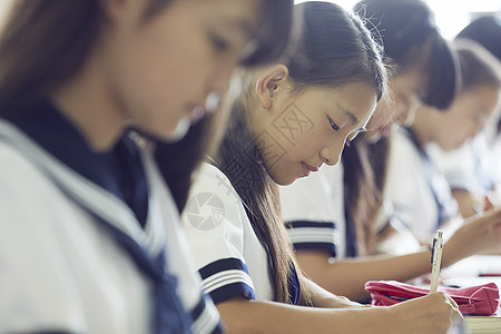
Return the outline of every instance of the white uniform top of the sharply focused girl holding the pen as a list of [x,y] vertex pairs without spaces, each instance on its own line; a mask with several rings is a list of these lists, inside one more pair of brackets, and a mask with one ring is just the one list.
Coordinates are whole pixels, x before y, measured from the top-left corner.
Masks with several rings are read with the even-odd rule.
[[[228,178],[203,164],[190,189],[181,219],[204,289],[214,302],[236,296],[272,301],[269,254],[253,229],[247,212]],[[292,303],[299,284],[292,268]]]

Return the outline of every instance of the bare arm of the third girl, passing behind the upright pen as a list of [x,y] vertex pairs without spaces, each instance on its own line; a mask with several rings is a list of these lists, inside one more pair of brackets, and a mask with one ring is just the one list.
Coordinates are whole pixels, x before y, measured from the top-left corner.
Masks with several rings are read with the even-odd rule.
[[[445,243],[442,266],[484,252],[501,250],[501,209],[468,219]],[[407,281],[431,269],[429,249],[400,256],[374,255],[330,262],[322,250],[298,250],[302,269],[325,289],[361,299],[366,296],[364,284],[372,279]]]

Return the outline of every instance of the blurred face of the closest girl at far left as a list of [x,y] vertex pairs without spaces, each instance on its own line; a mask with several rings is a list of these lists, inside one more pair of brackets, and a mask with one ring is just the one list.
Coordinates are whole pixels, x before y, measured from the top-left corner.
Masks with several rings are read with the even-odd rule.
[[177,0],[145,20],[149,2],[121,1],[111,12],[107,76],[125,119],[176,139],[205,112],[212,92],[228,89],[261,1]]

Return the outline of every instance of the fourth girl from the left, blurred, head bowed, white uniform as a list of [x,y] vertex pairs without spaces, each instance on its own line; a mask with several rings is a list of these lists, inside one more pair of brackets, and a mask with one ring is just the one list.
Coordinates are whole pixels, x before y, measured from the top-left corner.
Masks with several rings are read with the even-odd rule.
[[435,143],[443,150],[460,147],[473,138],[495,110],[501,89],[501,66],[473,41],[455,41],[461,68],[461,87],[445,111],[422,105],[409,128],[392,138],[387,190],[395,212],[421,243],[429,243],[436,229],[452,235],[462,223],[450,186],[426,153]]

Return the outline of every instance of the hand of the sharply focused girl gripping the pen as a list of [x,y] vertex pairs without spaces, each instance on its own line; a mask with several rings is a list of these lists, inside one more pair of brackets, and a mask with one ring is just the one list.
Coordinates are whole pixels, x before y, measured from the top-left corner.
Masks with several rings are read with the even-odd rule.
[[402,302],[387,307],[391,315],[389,332],[448,333],[462,322],[458,304],[445,293],[436,292],[424,297]]

